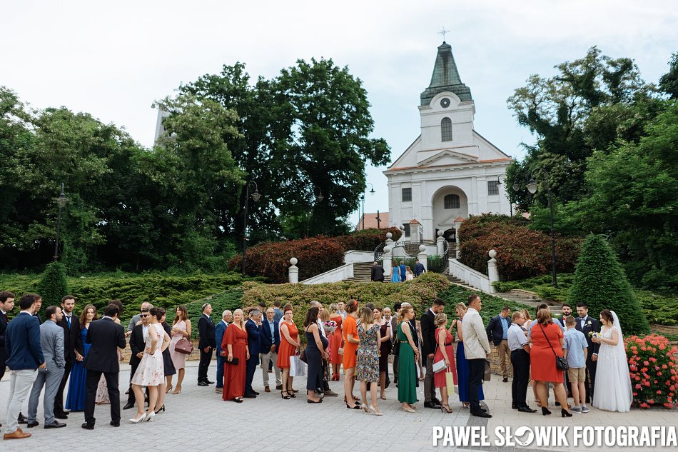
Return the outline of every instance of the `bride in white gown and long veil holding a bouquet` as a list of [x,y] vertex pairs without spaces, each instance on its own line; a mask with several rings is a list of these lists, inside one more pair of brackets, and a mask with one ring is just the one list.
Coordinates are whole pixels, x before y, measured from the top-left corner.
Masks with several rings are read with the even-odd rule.
[[604,309],[600,322],[600,336],[592,338],[600,344],[592,405],[605,411],[631,411],[633,391],[619,318],[614,311]]

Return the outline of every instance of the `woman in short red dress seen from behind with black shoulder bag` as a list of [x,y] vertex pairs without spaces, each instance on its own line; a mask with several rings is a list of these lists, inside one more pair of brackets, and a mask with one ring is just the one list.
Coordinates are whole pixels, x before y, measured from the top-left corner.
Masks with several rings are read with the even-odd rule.
[[567,394],[562,384],[562,371],[555,366],[555,357],[562,357],[562,346],[565,344],[562,329],[560,325],[553,323],[551,311],[548,309],[537,311],[537,320],[533,323],[530,330],[530,343],[532,343],[530,363],[532,364],[532,381],[537,385],[537,396],[541,401],[542,414],[544,416],[551,414],[547,408],[546,394],[547,383],[553,383],[555,399],[562,407],[560,413],[562,417],[570,417],[572,414],[566,409]]

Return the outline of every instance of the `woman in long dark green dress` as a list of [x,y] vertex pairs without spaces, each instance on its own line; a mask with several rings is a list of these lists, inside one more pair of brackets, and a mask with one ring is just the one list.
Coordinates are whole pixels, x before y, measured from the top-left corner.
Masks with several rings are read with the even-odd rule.
[[398,315],[398,401],[403,403],[403,411],[416,413],[414,403],[417,402],[417,370],[419,348],[415,347],[410,329],[410,320],[415,316],[412,306],[403,306]]

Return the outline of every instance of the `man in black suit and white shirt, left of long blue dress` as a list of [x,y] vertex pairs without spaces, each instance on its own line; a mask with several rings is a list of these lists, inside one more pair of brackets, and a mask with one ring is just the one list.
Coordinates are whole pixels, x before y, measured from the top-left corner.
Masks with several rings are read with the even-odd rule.
[[64,388],[66,388],[66,382],[69,381],[71,368],[73,368],[76,362],[76,351],[80,356],[85,354],[80,337],[80,319],[73,313],[75,306],[76,298],[74,296],[66,295],[64,298],[61,298],[61,310],[64,311],[64,316],[56,324],[64,328],[64,358],[66,359],[66,367],[64,368],[64,376],[61,378],[59,389],[54,397],[54,417],[57,419],[69,418],[69,413],[64,411]]

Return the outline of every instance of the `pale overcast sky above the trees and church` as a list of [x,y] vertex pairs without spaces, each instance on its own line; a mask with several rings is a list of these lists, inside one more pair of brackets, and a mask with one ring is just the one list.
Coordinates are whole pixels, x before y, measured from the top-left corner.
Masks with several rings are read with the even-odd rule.
[[[475,129],[521,159],[520,142],[532,137],[506,99],[530,74],[550,76],[596,45],[656,82],[678,51],[677,24],[672,0],[3,1],[0,85],[34,108],[86,111],[151,146],[151,103],[182,81],[236,61],[268,78],[324,56],[363,80],[374,136],[395,161],[420,134],[419,95],[445,26]],[[388,211],[383,170],[368,167],[377,193],[365,211]]]

